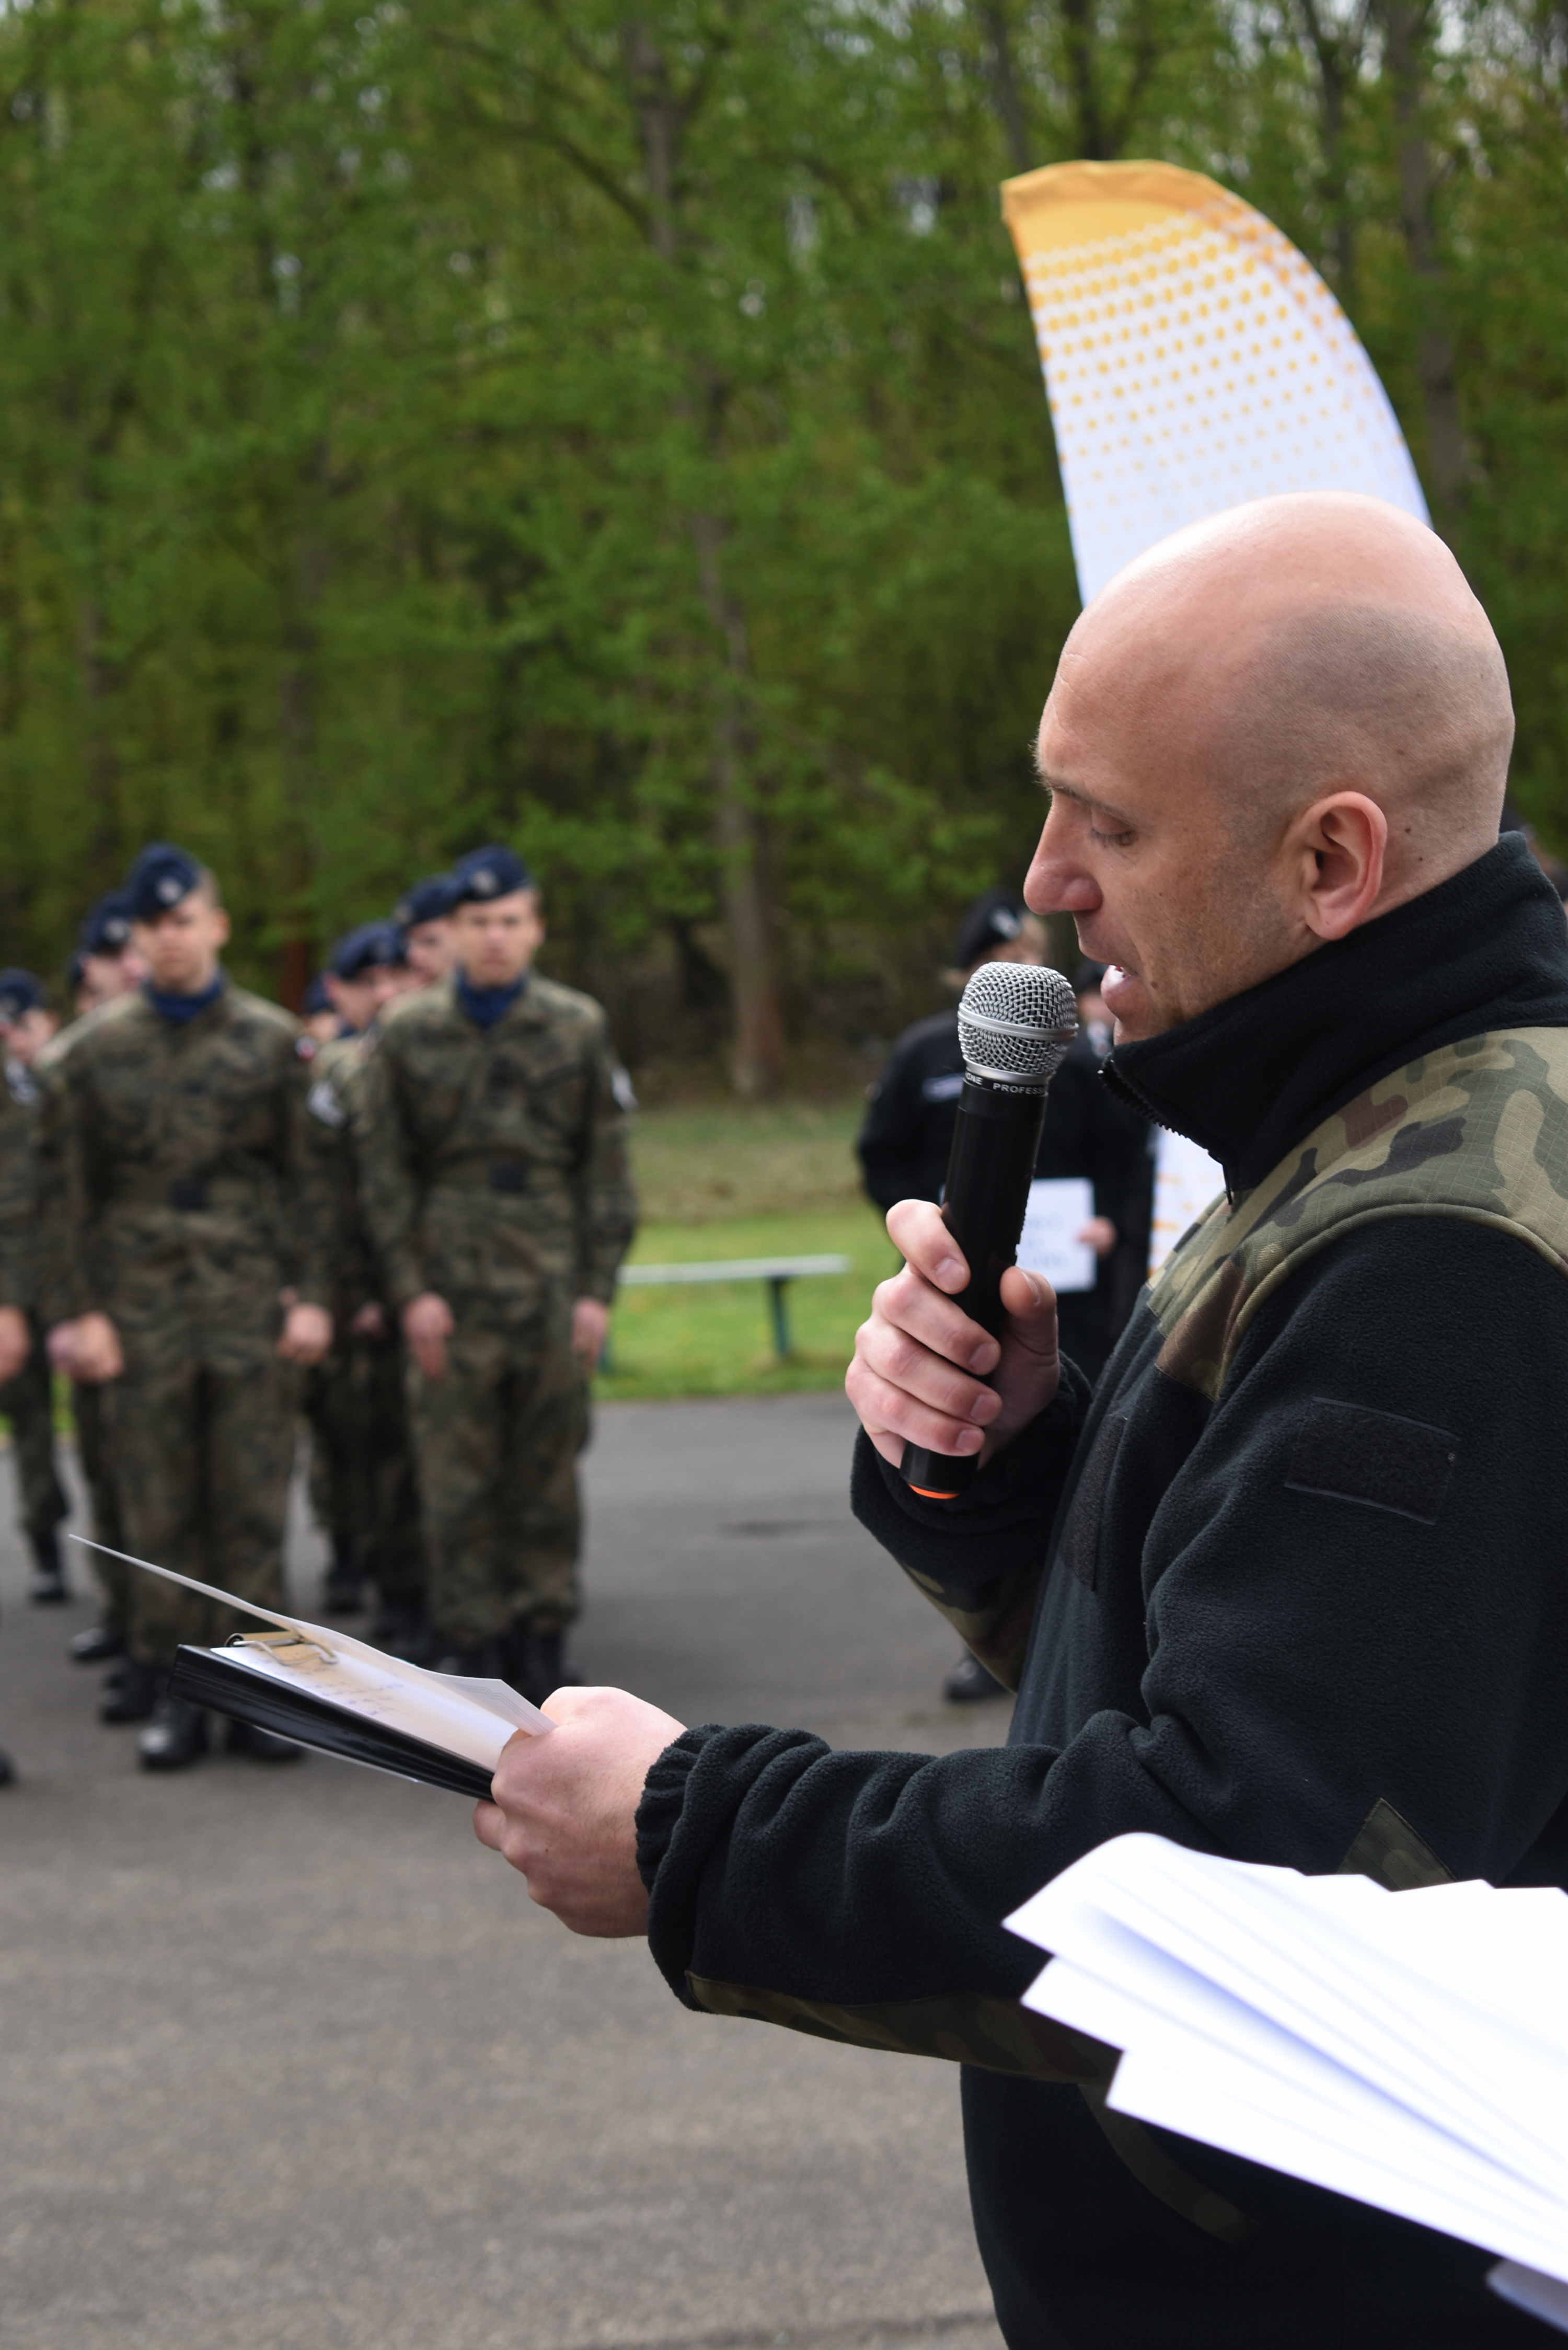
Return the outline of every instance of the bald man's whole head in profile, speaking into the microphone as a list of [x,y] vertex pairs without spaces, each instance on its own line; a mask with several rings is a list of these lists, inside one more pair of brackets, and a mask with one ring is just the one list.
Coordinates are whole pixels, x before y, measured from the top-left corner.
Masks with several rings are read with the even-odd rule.
[[1030,905],[1077,916],[1138,980],[1107,982],[1124,1029],[1154,1034],[1483,855],[1512,736],[1441,538],[1378,498],[1258,498],[1128,564],[1072,630]]

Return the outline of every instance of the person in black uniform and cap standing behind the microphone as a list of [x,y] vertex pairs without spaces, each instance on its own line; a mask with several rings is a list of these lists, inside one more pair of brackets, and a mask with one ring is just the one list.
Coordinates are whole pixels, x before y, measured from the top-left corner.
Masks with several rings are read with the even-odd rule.
[[[1044,924],[1030,914],[1018,891],[994,888],[976,898],[964,914],[952,954],[954,971],[947,978],[964,987],[980,964],[1044,964]],[[1093,978],[1098,982],[1100,968]],[[961,1086],[964,1053],[954,1006],[905,1029],[886,1069],[867,1088],[870,1107],[856,1149],[865,1191],[882,1210],[900,1198],[943,1196]],[[1119,1323],[1112,1325],[1112,1311],[1121,1283],[1112,1288],[1112,1274],[1119,1236],[1135,1220],[1145,1159],[1145,1121],[1100,1086],[1100,1053],[1088,1032],[1079,1032],[1051,1079],[1034,1177],[1053,1182],[1077,1175],[1093,1184],[1095,1213],[1079,1238],[1098,1257],[1095,1285],[1063,1292],[1056,1302],[1063,1354],[1088,1379],[1098,1379],[1117,1340]],[[1128,1311],[1131,1302],[1128,1297]],[[1001,1683],[971,1654],[952,1668],[943,1687],[954,1704],[1001,1694]]]

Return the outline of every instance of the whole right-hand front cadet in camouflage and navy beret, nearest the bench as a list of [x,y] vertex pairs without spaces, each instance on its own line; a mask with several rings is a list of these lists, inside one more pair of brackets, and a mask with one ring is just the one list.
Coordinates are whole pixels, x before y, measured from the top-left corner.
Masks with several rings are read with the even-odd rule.
[[529,971],[527,867],[456,867],[456,968],[360,1079],[362,1208],[414,1354],[430,1610],[458,1671],[548,1694],[578,1610],[585,1365],[632,1238],[630,1090],[604,1013]]

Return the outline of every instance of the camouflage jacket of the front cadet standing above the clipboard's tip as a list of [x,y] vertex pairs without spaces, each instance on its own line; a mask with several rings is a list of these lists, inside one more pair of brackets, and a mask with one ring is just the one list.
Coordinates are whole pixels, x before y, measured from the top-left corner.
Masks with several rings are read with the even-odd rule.
[[296,1036],[223,980],[183,1025],[120,996],[40,1055],[49,1323],[103,1311],[200,1347],[209,1316],[275,1328],[284,1285],[329,1304],[339,1231]]

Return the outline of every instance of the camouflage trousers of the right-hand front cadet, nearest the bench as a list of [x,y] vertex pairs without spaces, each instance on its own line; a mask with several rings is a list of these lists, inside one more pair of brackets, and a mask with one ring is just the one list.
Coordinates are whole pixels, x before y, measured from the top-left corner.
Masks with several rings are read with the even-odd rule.
[[484,1330],[451,1309],[447,1377],[409,1365],[430,1614],[456,1647],[510,1624],[562,1631],[578,1612],[583,1365],[564,1332],[541,1347],[538,1323]]

